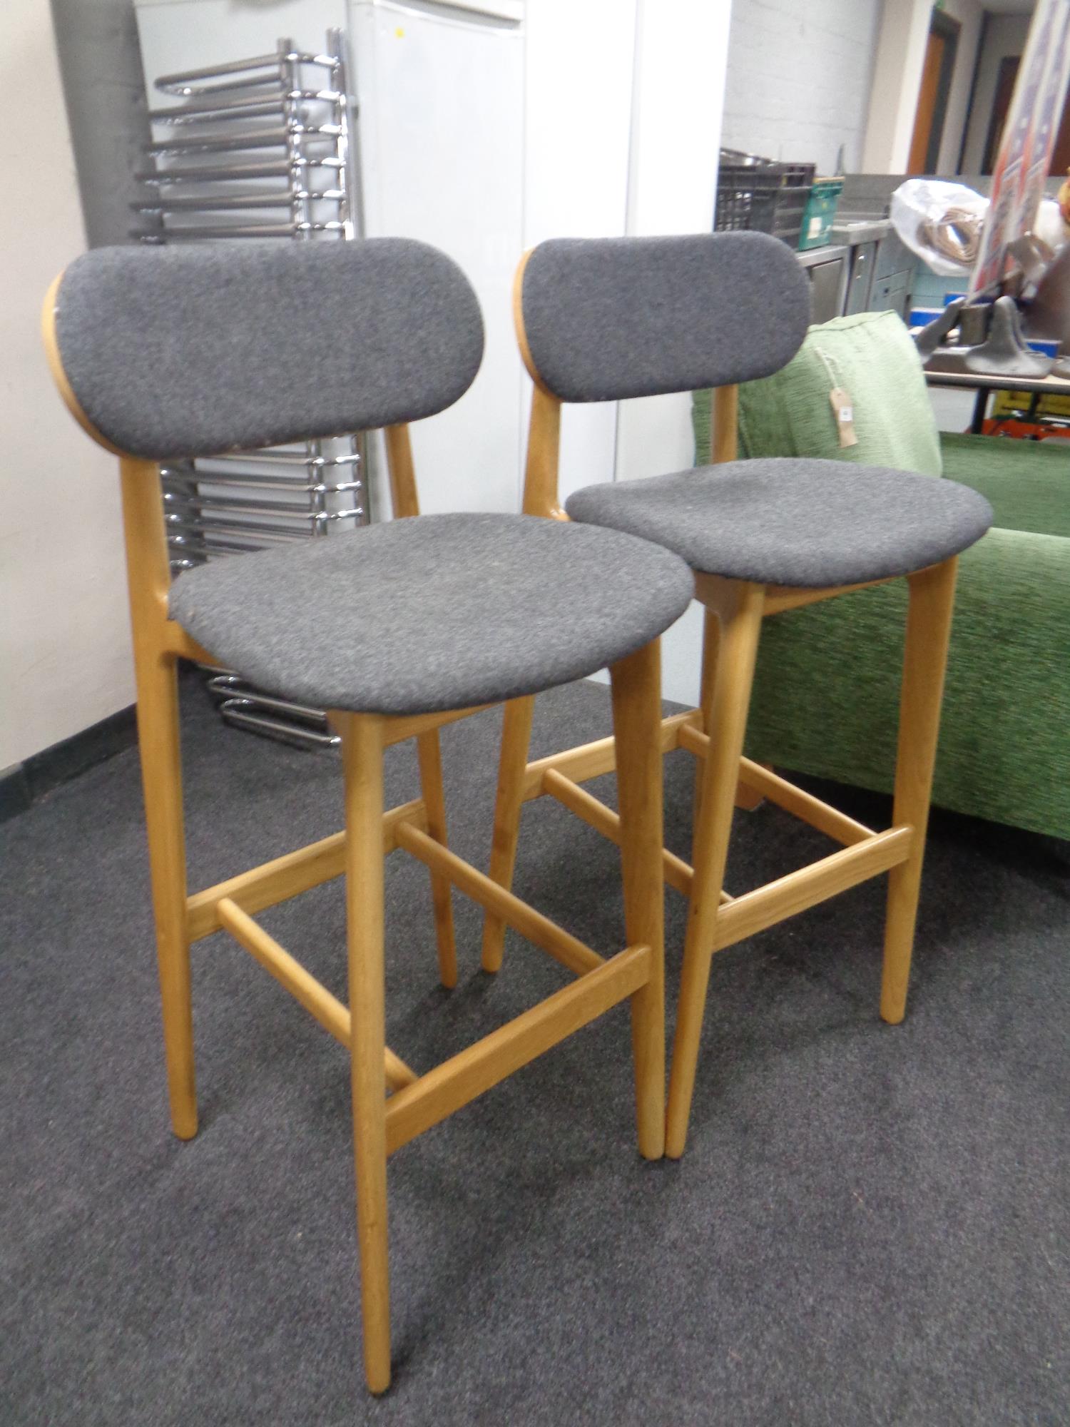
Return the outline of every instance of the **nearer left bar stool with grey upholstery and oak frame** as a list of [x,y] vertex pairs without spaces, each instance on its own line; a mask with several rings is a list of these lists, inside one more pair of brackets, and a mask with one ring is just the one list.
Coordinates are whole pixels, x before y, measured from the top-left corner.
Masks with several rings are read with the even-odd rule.
[[[325,328],[324,314],[332,321]],[[421,243],[101,248],[53,285],[53,374],[120,457],[137,715],[171,1117],[197,1130],[190,943],[225,929],[350,1050],[368,1386],[389,1384],[387,1156],[631,999],[639,1150],[663,1150],[665,1023],[658,635],[688,567],[615,531],[524,515],[418,517],[407,422],[464,394],[482,320],[464,274]],[[158,462],[387,428],[395,515],[351,535],[214,561],[170,584]],[[352,621],[360,614],[360,638]],[[180,656],[331,709],[345,831],[190,895]],[[437,729],[479,706],[612,669],[628,946],[603,959],[445,846]],[[422,798],[384,811],[382,751],[415,738]],[[434,878],[442,980],[449,886],[576,980],[418,1075],[384,1040],[384,853]],[[345,875],[350,1005],[253,913]],[[392,1090],[389,1099],[385,1092]]]

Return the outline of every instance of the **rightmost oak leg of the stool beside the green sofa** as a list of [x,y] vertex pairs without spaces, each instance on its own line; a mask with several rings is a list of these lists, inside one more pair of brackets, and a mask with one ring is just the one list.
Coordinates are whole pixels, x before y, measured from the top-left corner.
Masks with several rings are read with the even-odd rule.
[[906,1015],[924,835],[933,789],[940,702],[952,634],[957,561],[910,577],[893,823],[914,829],[910,856],[889,873],[880,1015],[893,1026]]

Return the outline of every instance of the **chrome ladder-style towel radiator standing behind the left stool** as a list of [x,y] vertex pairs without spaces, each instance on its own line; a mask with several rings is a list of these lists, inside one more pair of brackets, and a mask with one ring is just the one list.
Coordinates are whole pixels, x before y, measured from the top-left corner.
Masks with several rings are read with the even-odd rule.
[[[221,238],[345,241],[360,230],[350,150],[344,36],[322,54],[278,41],[274,54],[167,74],[178,103],[150,108],[153,143],[133,204],[141,243]],[[328,340],[327,318],[324,340]],[[362,437],[173,461],[163,468],[171,569],[317,539],[368,522]],[[332,746],[321,709],[210,671],[223,718],[304,746]]]

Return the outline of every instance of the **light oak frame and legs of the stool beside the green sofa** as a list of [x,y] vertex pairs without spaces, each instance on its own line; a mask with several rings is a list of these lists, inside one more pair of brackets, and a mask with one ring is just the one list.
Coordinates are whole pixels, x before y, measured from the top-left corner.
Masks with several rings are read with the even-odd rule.
[[[524,328],[522,285],[528,254],[516,270],[514,321],[524,364],[534,382],[524,509],[529,515],[568,519],[558,497],[561,405],[532,360]],[[713,394],[713,461],[736,459],[738,388]],[[870,585],[796,588],[760,585],[696,574],[695,598],[705,605],[700,706],[662,719],[661,748],[688,749],[696,758],[692,863],[662,853],[665,882],[689,898],[681,996],[669,1077],[665,1153],[683,1153],[691,1116],[709,965],[715,952],[733,946],[785,918],[889,872],[887,918],[880,1015],[897,1025],[906,1015],[907,980],[917,916],[924,836],[936,759],[940,702],[947,662],[956,559],[907,578],[910,598],[899,715],[893,825],[875,832],[803,792],[772,769],[743,756],[755,658],[762,621],[822,599]],[[511,885],[521,808],[551,796],[592,828],[616,841],[616,815],[581,783],[623,768],[612,738],[528,762],[534,699],[506,708],[495,803],[491,876]],[[732,813],[762,798],[810,823],[842,845],[822,860],[742,896],[725,892]],[[484,922],[482,965],[502,962],[504,923],[492,912]]]

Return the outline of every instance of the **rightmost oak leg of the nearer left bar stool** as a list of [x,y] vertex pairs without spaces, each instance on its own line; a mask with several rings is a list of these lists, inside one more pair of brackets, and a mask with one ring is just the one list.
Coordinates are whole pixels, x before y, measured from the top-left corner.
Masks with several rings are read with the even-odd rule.
[[661,651],[658,641],[611,671],[621,866],[629,946],[651,948],[651,979],[632,996],[639,1153],[665,1153],[665,885],[662,880]]

